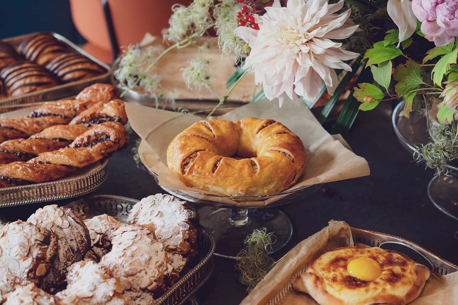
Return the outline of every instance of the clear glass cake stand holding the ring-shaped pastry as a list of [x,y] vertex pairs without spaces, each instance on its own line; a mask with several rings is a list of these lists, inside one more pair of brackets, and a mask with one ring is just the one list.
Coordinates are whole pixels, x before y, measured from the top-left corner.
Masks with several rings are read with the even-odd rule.
[[[213,114],[212,118],[220,116],[230,110],[232,107],[220,107]],[[211,110],[194,112],[198,116],[205,117]],[[262,196],[223,196],[209,195],[199,192],[182,192],[177,189],[169,189],[159,184],[158,175],[149,170],[148,172],[154,177],[156,183],[169,194],[201,205],[197,213],[203,227],[206,227],[216,240],[216,250],[214,255],[235,259],[237,254],[242,250],[245,237],[253,233],[254,229],[267,228],[267,233],[275,235],[275,242],[272,245],[272,251],[276,252],[286,245],[293,233],[293,227],[288,216],[274,206],[284,205],[296,201],[304,201],[322,184],[300,187],[297,189],[288,189],[278,194]],[[206,198],[202,199],[202,195]],[[224,200],[234,200],[240,205],[229,204]],[[243,205],[245,202],[259,202],[264,200],[277,201],[269,205]]]

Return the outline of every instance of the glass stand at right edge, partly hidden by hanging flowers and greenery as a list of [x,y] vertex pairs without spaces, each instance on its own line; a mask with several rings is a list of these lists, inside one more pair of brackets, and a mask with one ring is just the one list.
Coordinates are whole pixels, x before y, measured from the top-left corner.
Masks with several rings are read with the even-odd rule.
[[[400,102],[393,111],[393,129],[399,142],[412,154],[417,151],[415,145],[430,141],[427,130],[428,118],[413,111],[410,117],[403,116],[404,102]],[[447,164],[447,175],[435,175],[428,184],[428,196],[436,207],[448,216],[458,220],[458,168]]]

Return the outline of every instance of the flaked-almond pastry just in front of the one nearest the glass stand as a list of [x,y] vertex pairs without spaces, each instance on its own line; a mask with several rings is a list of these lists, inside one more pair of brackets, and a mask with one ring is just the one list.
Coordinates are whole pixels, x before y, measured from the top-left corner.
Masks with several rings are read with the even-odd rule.
[[114,230],[111,244],[100,264],[120,277],[125,289],[153,291],[162,288],[168,278],[177,277],[163,244],[146,227],[123,223]]

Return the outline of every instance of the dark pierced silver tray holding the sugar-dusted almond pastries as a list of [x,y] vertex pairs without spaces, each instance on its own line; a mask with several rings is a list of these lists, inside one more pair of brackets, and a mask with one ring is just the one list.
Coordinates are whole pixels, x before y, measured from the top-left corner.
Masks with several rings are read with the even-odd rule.
[[[114,218],[126,222],[129,211],[139,200],[112,196],[96,195],[74,201],[66,207],[71,208],[81,219],[108,214]],[[212,233],[199,227],[197,244],[199,258],[189,264],[191,269],[182,272],[180,280],[174,284],[162,297],[154,302],[154,305],[181,305],[185,303],[201,286],[207,282],[213,272],[212,255],[215,251],[215,240]]]

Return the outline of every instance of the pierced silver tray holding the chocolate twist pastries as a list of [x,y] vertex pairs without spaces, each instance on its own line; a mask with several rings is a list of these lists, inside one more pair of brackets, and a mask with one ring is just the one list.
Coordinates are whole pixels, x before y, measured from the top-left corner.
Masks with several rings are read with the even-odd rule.
[[[94,171],[78,177],[0,189],[0,208],[81,196],[97,189],[108,176],[108,159]],[[81,171],[81,170],[80,170]],[[76,172],[77,173],[77,172]]]

